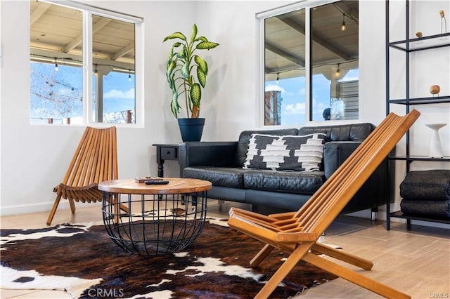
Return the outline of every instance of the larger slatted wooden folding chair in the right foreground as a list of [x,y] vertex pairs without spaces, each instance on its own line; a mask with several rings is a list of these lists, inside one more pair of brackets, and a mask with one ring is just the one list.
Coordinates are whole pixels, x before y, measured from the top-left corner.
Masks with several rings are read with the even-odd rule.
[[311,253],[311,250],[364,270],[371,270],[371,261],[335,250],[317,240],[419,115],[416,110],[404,117],[389,114],[297,212],[260,215],[239,208],[230,209],[230,227],[266,244],[250,261],[252,267],[257,267],[274,248],[290,254],[255,298],[269,297],[300,260],[386,298],[411,298],[394,288],[321,258]]

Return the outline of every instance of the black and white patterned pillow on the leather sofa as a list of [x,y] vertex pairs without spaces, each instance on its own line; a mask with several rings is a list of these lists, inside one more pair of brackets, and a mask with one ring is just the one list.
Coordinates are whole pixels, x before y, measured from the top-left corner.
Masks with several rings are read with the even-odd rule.
[[324,133],[309,135],[252,134],[243,168],[319,171]]

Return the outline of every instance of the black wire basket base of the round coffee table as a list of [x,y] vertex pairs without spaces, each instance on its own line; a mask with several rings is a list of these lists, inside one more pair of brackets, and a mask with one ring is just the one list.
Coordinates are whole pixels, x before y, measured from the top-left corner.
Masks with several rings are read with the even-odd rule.
[[[195,194],[114,194],[128,213],[117,211],[113,194],[103,199],[103,223],[108,236],[129,253],[160,255],[181,251],[203,230],[206,192]],[[109,196],[108,196],[109,195]]]

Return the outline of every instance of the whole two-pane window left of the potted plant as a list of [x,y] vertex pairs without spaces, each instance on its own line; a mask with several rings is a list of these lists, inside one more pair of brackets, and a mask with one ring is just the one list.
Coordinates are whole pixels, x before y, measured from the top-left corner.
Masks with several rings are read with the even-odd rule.
[[30,122],[142,122],[141,22],[75,2],[30,1]]

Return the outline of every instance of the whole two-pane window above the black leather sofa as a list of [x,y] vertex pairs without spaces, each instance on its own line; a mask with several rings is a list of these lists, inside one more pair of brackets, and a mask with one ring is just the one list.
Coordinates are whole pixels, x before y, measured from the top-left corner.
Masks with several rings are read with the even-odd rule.
[[358,1],[304,1],[257,15],[264,125],[359,118],[358,11]]

